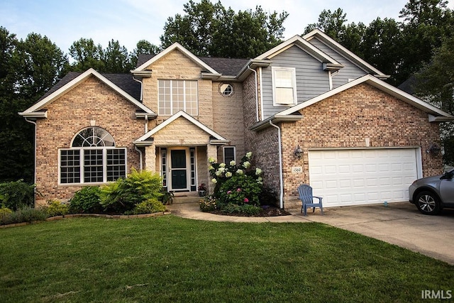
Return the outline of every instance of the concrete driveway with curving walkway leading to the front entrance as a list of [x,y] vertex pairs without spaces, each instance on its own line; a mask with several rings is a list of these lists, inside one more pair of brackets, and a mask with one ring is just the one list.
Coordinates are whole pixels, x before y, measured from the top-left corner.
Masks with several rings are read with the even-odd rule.
[[319,222],[355,233],[377,238],[454,265],[454,211],[445,209],[439,216],[425,216],[409,202],[365,206],[343,206],[319,209],[303,216],[291,211],[292,216],[242,217],[204,213],[198,203],[167,206],[172,214],[187,219],[224,222]]

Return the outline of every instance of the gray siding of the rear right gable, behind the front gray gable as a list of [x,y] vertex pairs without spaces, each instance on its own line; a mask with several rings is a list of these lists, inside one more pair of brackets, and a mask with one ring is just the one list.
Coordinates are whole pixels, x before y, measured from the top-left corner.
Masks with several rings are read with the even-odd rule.
[[358,67],[358,65],[355,65],[353,62],[343,57],[343,55],[337,53],[335,50],[328,47],[328,45],[326,45],[325,43],[322,43],[319,39],[312,38],[311,40],[309,40],[309,43],[314,45],[316,48],[319,48],[319,50],[321,50],[323,53],[326,53],[326,55],[332,57],[337,62],[345,65],[345,67],[339,70],[338,74],[333,76],[333,89],[340,87],[345,83],[348,83],[349,79],[356,79],[367,75],[367,72],[365,70],[362,70],[360,67]]

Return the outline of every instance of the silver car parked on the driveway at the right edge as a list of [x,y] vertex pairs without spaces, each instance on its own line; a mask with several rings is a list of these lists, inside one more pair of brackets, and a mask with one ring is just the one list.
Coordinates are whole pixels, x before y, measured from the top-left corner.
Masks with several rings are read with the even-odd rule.
[[426,177],[409,187],[410,202],[423,214],[438,214],[443,208],[454,208],[454,170]]

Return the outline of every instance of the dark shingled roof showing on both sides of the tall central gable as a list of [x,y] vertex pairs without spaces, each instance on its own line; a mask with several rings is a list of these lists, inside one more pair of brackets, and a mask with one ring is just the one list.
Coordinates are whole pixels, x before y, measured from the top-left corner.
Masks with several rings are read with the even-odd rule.
[[[137,67],[143,65],[155,55],[140,54],[137,60]],[[222,58],[222,57],[199,57],[200,60],[211,66],[216,72],[224,76],[236,76],[238,72],[248,63],[248,59]]]

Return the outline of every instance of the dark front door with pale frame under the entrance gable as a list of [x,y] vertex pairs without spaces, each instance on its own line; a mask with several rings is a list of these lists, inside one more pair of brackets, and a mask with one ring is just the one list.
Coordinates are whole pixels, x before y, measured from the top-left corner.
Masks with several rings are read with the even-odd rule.
[[170,150],[170,189],[189,190],[187,182],[187,150]]

